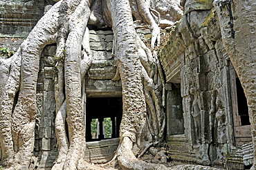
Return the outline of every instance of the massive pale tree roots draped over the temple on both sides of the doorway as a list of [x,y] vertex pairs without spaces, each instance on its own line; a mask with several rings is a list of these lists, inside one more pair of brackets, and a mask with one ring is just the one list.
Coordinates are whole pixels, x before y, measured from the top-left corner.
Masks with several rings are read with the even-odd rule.
[[165,86],[157,55],[136,34],[132,17],[152,27],[151,47],[154,48],[155,42],[160,41],[156,21],[160,20],[160,13],[143,0],[130,2],[102,1],[107,8],[101,15],[94,15],[90,10],[93,1],[59,1],[40,19],[17,53],[1,60],[5,68],[1,77],[6,79],[6,84],[0,84],[0,142],[6,167],[33,169],[39,55],[46,45],[57,43],[55,131],[59,155],[53,169],[102,169],[84,161],[84,75],[92,60],[87,23],[89,19],[90,23],[98,23],[95,16],[104,16],[115,37],[113,55],[118,72],[114,79],[120,78],[122,82],[123,115],[120,145],[116,151],[120,167],[166,169],[163,165],[137,160],[132,151],[134,144],[143,149],[163,141]]

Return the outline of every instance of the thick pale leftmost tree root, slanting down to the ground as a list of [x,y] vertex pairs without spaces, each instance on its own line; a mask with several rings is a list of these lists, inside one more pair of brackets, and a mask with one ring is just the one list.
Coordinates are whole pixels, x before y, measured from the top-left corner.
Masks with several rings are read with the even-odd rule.
[[39,55],[46,44],[51,44],[56,39],[58,5],[51,9],[53,15],[42,17],[12,56],[10,74],[1,93],[0,108],[2,159],[8,167],[29,167],[32,161]]

